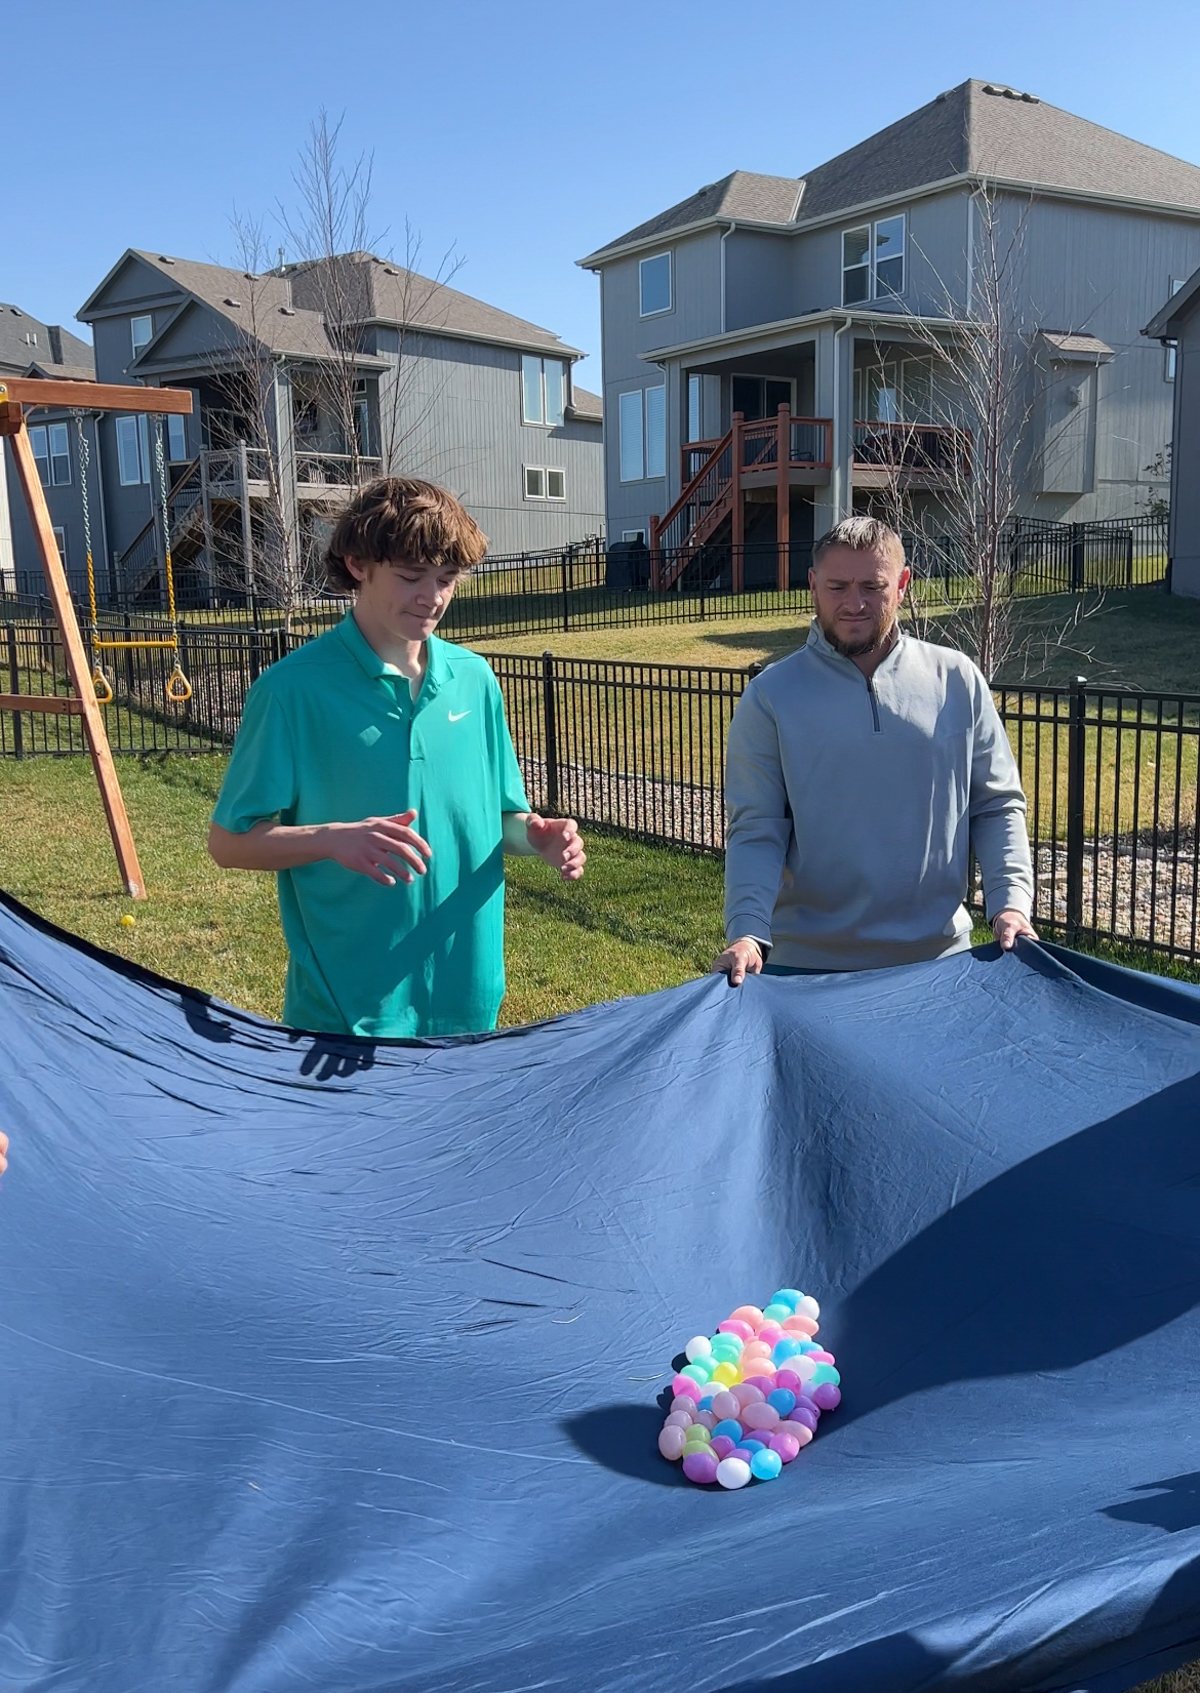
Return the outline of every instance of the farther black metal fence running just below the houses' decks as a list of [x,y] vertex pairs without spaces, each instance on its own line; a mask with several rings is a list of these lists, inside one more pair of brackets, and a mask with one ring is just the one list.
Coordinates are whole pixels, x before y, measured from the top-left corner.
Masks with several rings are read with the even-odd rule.
[[[951,532],[906,537],[916,576],[914,593],[931,606],[966,604],[978,596],[978,571],[972,547]],[[555,635],[577,630],[650,623],[702,623],[718,618],[779,616],[811,608],[807,574],[811,547],[785,549],[751,542],[735,549],[724,542],[699,550],[660,549],[660,579],[679,586],[650,587],[650,552],[636,545],[567,549],[487,559],[460,582],[443,623],[457,640],[499,640],[508,635]],[[1048,523],[1014,518],[1004,535],[1004,589],[1032,598],[1082,594],[1105,587],[1136,587],[1166,579],[1166,520],[1114,518],[1097,523]],[[741,587],[735,591],[733,584]],[[785,582],[785,587],[780,587]],[[47,601],[39,581],[25,572],[22,593],[0,599],[0,616],[44,616]],[[73,582],[76,598],[83,587]],[[281,613],[267,601],[212,606],[181,601],[190,626],[213,621],[257,628],[278,625]],[[301,621],[325,626],[340,616],[345,601],[317,599],[301,608]],[[134,603],[108,606],[105,621],[156,623],[161,608]]]

